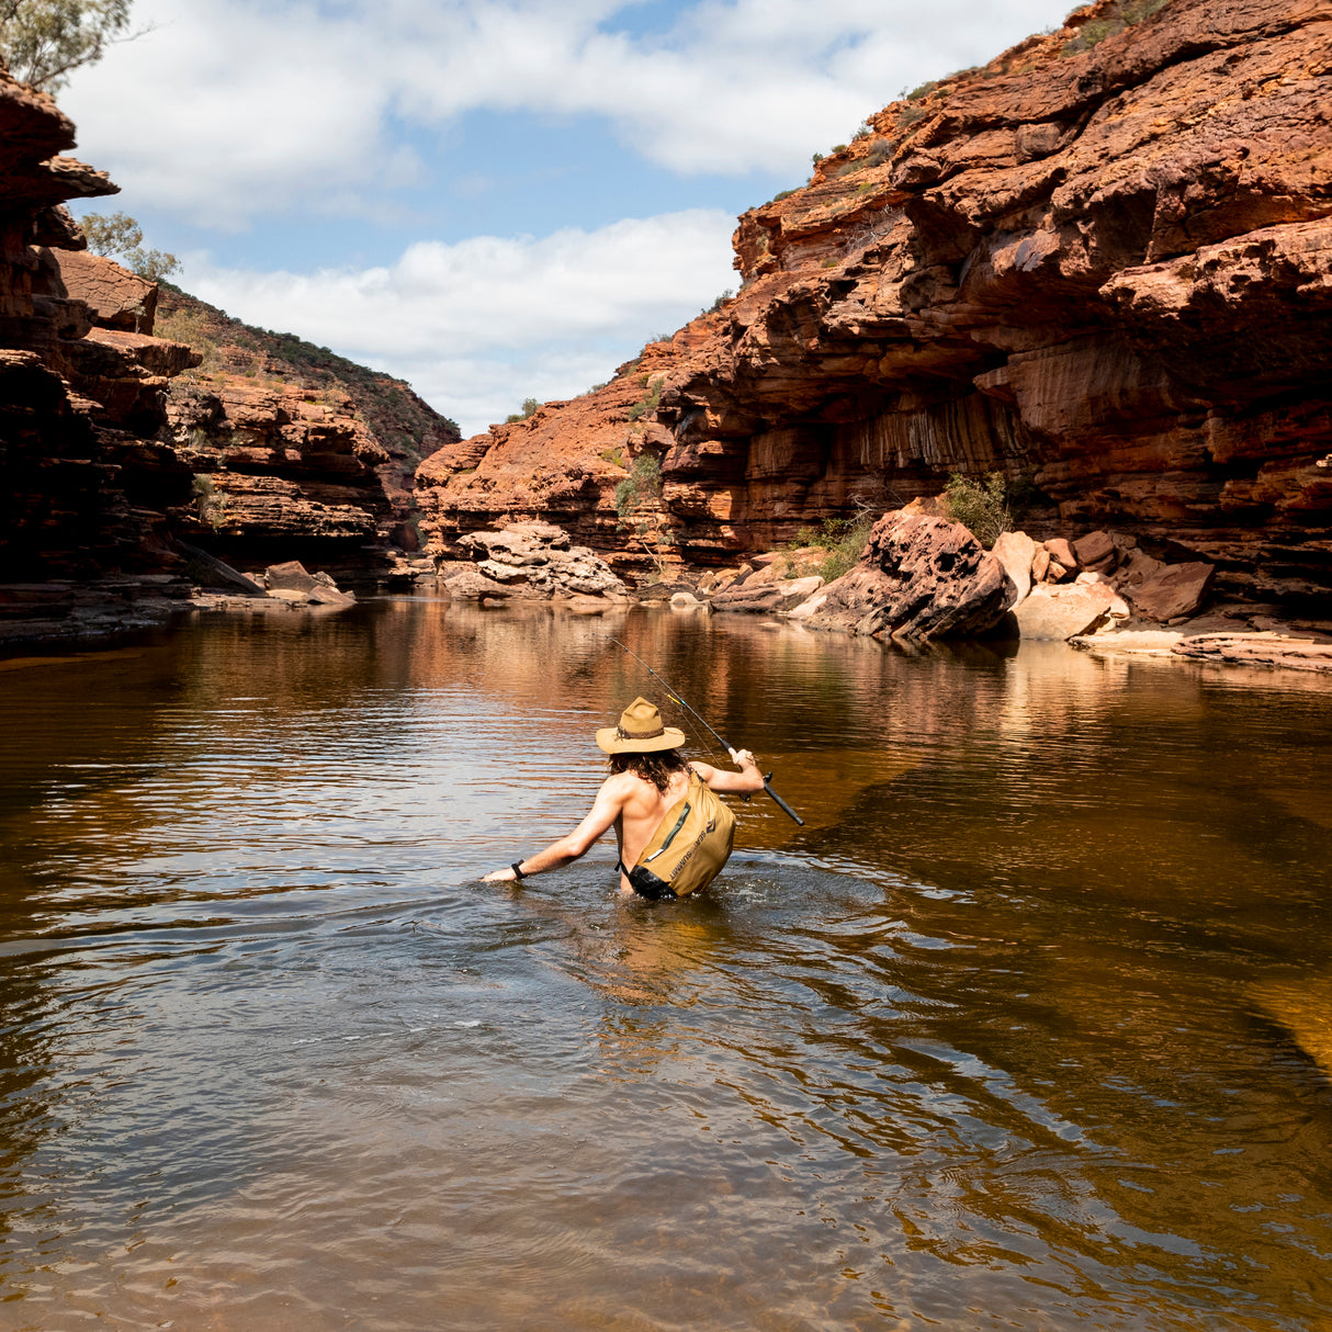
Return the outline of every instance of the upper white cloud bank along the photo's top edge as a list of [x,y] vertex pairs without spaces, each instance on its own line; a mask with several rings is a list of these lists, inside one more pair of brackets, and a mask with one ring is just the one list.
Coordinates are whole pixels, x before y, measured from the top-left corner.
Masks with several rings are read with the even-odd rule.
[[402,123],[448,133],[478,109],[605,117],[683,173],[786,173],[1066,4],[709,0],[643,39],[614,29],[625,0],[140,0],[152,31],[63,103],[127,193],[218,226],[382,206],[413,170]]

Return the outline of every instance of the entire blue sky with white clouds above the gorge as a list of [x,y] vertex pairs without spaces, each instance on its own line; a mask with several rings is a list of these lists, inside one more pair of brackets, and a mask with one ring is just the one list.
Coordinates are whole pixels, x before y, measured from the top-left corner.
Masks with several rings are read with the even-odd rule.
[[186,290],[465,436],[738,285],[737,216],[1070,0],[136,0],[59,95]]

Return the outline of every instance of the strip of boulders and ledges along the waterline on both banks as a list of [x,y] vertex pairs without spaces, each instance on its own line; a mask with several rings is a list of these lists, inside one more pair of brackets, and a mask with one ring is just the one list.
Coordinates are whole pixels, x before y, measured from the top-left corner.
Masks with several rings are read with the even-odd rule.
[[[511,523],[462,542],[470,559],[401,561],[392,582],[478,606],[545,605],[581,615],[657,607],[763,615],[809,631],[928,647],[958,639],[1067,642],[1104,657],[1332,673],[1332,633],[1204,609],[1212,578],[1196,562],[1167,565],[1132,541],[1096,531],[1036,543],[1004,533],[986,551],[962,525],[916,505],[884,514],[846,574],[803,573],[815,547],[754,555],[733,569],[678,570],[630,589],[569,533]],[[190,578],[141,574],[92,583],[0,585],[0,651],[107,643],[192,614],[330,614],[357,605],[322,571],[288,561],[241,573],[186,547]],[[1329,626],[1332,627],[1332,626]]]

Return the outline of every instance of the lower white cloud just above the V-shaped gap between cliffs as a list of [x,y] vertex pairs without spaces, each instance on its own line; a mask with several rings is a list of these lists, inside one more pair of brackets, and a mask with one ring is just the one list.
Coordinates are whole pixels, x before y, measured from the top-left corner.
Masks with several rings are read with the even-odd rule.
[[196,256],[186,274],[237,318],[409,380],[472,434],[525,397],[571,397],[609,378],[734,285],[733,225],[694,209],[541,238],[428,241],[385,268],[261,273]]

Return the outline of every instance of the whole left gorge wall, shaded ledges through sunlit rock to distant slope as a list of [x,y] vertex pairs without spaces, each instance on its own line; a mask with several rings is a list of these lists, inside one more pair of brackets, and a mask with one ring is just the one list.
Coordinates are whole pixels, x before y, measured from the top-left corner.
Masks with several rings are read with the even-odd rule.
[[412,476],[453,422],[87,253],[63,205],[116,186],[73,143],[0,73],[0,617],[48,614],[61,583],[176,578],[180,541],[352,574],[414,549]]

